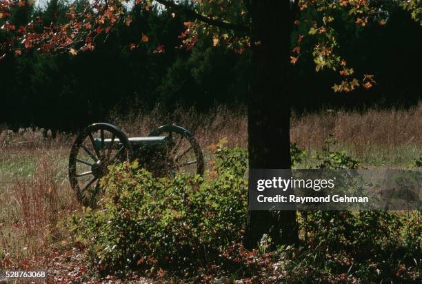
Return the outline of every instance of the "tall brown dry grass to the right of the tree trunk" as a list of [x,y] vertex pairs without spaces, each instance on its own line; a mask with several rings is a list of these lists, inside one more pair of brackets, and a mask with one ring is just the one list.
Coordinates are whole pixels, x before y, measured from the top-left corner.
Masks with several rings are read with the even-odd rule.
[[364,152],[372,145],[395,148],[422,145],[422,104],[410,110],[330,111],[293,116],[292,141],[319,147],[332,134],[341,144]]

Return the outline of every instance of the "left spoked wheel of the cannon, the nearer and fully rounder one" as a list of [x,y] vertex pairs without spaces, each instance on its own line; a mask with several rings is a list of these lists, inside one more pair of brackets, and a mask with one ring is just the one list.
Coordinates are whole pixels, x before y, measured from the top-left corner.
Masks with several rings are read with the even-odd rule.
[[[105,139],[111,139],[108,146]],[[120,144],[114,143],[115,139]],[[100,148],[95,147],[96,143],[101,143]],[[107,174],[108,165],[132,159],[128,137],[116,126],[95,123],[85,128],[74,141],[69,156],[69,181],[79,203],[95,207],[101,196],[99,180]]]

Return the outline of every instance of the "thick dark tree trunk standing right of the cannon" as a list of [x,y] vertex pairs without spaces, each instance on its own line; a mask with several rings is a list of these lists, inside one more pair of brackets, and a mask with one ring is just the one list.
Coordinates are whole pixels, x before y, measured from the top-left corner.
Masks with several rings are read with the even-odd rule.
[[[252,0],[254,77],[248,97],[249,167],[290,169],[290,0]],[[297,243],[296,212],[250,212],[246,247],[263,234],[275,245]]]

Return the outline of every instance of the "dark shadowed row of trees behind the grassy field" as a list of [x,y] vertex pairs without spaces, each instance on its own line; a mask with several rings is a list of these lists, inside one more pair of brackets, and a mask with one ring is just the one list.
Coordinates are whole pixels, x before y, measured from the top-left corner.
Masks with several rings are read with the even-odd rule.
[[[43,9],[15,10],[11,22],[23,25],[41,17],[45,24],[66,21],[66,5],[52,0]],[[374,74],[376,85],[351,93],[334,93],[334,72],[315,72],[312,51],[302,52],[290,74],[294,108],[408,107],[421,99],[421,27],[395,8],[385,26],[369,23],[356,33],[339,27],[343,56],[354,70]],[[37,126],[77,130],[103,121],[110,112],[125,115],[148,111],[160,103],[171,112],[177,105],[207,110],[215,103],[236,107],[245,103],[250,81],[250,53],[239,54],[212,40],[199,38],[190,51],[181,45],[183,17],[158,9],[130,10],[132,23],[119,23],[108,39],[91,52],[44,55],[37,51],[7,54],[0,61],[0,123],[8,127]],[[3,23],[0,20],[0,26]],[[292,47],[298,35],[292,37]],[[305,31],[306,32],[306,31]],[[141,34],[148,42],[139,43]],[[0,41],[7,34],[0,30]],[[103,41],[104,39],[99,39]],[[154,52],[164,45],[165,52]]]

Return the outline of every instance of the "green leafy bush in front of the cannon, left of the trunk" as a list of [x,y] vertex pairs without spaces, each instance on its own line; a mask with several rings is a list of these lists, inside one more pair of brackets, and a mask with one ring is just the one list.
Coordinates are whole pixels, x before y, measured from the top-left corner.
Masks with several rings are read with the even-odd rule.
[[[201,176],[155,178],[135,162],[110,168],[101,210],[74,216],[79,241],[99,270],[168,267],[189,274],[232,242],[241,242],[248,190],[244,150],[219,149]],[[210,175],[211,176],[211,175]]]

